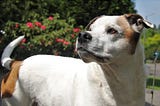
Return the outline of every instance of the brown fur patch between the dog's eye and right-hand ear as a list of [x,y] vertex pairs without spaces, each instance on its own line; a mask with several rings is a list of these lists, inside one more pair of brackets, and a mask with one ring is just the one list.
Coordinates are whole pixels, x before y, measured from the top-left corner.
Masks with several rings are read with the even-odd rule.
[[134,54],[137,46],[137,42],[139,40],[139,33],[136,33],[130,23],[127,21],[127,19],[124,16],[120,16],[120,18],[117,21],[117,24],[121,26],[121,28],[124,30],[124,35],[128,39],[130,43],[130,49],[129,53]]

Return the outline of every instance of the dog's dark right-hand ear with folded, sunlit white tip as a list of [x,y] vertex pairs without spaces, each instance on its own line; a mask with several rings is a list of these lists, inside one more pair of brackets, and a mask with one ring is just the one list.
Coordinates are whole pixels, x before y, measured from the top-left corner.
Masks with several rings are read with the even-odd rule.
[[140,33],[144,27],[154,28],[152,23],[144,20],[143,17],[138,14],[125,14],[125,17],[132,26],[133,30],[138,33]]

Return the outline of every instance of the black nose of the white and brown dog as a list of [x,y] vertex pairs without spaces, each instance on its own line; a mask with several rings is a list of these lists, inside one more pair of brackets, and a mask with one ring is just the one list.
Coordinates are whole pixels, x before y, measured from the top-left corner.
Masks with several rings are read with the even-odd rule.
[[92,40],[92,36],[88,32],[80,32],[78,34],[78,42],[79,43],[87,43]]

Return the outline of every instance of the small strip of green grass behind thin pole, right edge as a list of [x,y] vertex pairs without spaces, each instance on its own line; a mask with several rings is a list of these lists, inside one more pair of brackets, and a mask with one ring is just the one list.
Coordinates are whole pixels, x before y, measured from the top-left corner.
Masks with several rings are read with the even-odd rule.
[[149,76],[147,78],[147,88],[148,89],[160,90],[160,77],[155,77],[155,84],[154,84],[154,87],[153,87],[153,77]]

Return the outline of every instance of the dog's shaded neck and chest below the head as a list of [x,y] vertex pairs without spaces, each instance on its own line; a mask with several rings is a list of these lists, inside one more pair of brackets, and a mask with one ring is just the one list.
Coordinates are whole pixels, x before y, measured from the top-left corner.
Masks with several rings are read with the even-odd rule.
[[101,64],[117,104],[144,106],[145,73],[142,50],[138,43],[135,54],[127,60],[109,65]]

